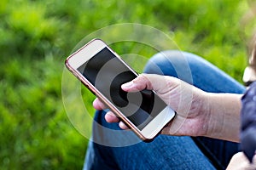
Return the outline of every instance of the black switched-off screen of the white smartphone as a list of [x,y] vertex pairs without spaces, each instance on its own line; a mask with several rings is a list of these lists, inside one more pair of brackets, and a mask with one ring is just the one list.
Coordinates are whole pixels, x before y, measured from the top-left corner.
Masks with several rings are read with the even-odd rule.
[[166,108],[166,103],[153,91],[127,93],[121,89],[123,83],[137,75],[108,48],[103,48],[78,70],[140,130]]

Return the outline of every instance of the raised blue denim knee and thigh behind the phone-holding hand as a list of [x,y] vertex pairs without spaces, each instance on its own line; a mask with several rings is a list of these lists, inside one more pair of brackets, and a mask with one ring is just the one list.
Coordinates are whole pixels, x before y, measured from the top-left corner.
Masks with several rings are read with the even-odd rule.
[[207,60],[176,50],[155,54],[149,59],[144,72],[178,77],[212,93],[242,94],[245,91],[240,83]]

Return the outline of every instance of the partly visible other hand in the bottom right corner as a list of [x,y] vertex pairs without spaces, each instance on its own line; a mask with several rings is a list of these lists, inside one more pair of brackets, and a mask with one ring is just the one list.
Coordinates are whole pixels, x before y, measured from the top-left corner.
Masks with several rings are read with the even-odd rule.
[[243,154],[243,152],[238,152],[235,156],[231,158],[230,164],[227,167],[227,170],[249,170],[256,169],[256,156],[253,157],[253,162],[250,163],[247,157]]

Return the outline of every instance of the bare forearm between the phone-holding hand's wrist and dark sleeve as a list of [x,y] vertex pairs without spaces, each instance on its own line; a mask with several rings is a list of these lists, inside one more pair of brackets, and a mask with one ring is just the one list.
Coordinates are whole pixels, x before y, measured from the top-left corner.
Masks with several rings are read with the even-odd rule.
[[239,141],[241,94],[207,93],[207,137]]

